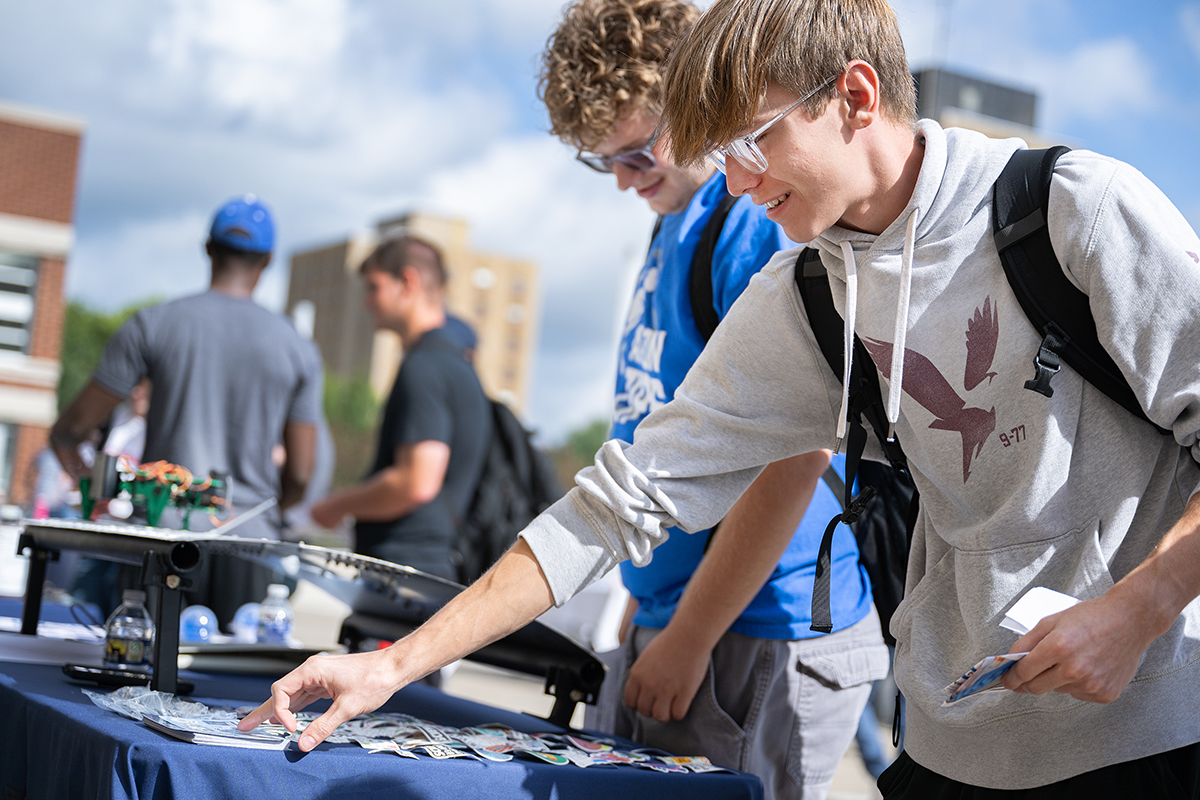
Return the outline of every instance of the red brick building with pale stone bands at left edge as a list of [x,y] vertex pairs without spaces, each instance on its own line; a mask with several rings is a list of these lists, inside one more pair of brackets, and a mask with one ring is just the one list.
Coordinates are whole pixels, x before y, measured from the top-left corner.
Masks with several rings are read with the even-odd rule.
[[0,101],[0,499],[31,500],[56,416],[62,278],[84,122]]

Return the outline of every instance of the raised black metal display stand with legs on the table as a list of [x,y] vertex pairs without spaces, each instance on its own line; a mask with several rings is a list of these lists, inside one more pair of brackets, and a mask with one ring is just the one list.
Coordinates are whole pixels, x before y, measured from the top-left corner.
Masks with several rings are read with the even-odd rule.
[[[28,634],[37,631],[46,564],[60,551],[142,566],[148,606],[157,627],[150,685],[163,692],[175,692],[180,686],[179,616],[182,593],[192,585],[185,576],[199,566],[202,558],[235,555],[322,587],[354,609],[342,630],[342,639],[352,643],[364,638],[400,639],[462,590],[450,581],[388,561],[302,542],[241,540],[220,533],[28,519],[20,547],[30,555],[22,613],[22,632]],[[349,569],[352,576],[340,576],[342,567]],[[467,657],[545,679],[547,693],[554,697],[550,718],[564,727],[570,724],[576,703],[595,702],[605,676],[605,667],[593,652],[540,622],[530,622]]]

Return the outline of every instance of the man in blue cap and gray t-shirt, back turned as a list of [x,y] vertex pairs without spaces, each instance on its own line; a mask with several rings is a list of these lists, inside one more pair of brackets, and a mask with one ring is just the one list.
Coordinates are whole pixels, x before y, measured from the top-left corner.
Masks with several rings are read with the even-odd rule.
[[[316,347],[252,300],[274,247],[275,221],[257,197],[217,209],[204,246],[208,290],[130,318],[54,423],[52,446],[72,477],[89,469],[79,444],[148,378],[143,462],[167,461],[202,479],[227,474],[233,513],[277,498],[277,509],[248,519],[238,535],[278,539],[280,510],[302,498],[312,475],[324,379]],[[276,445],[286,453],[282,465],[271,458]],[[204,515],[190,522],[193,530],[210,525]],[[160,524],[179,525],[168,515]],[[222,625],[242,603],[262,600],[271,582],[270,571],[233,558],[211,559],[198,572],[187,600],[212,608]]]

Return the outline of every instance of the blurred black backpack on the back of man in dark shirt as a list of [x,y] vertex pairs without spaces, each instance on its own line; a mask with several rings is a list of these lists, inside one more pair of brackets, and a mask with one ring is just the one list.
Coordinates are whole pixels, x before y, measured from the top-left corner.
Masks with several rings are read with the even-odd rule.
[[550,457],[534,447],[512,410],[492,407],[492,438],[467,515],[455,531],[458,583],[470,585],[517,541],[533,518],[563,497]]

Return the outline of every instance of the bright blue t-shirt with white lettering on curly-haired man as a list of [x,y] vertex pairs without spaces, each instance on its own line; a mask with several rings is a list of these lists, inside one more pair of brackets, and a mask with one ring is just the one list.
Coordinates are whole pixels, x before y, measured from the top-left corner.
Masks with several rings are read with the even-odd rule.
[[[691,313],[691,259],[708,222],[725,194],[725,176],[714,173],[679,213],[662,224],[637,278],[622,331],[617,362],[617,392],[612,437],[634,440],[634,429],[655,408],[674,397],[676,389],[704,349],[704,338]],[[780,228],[749,198],[742,198],[718,237],[713,255],[713,306],[725,318],[755,272],[780,249],[793,247]],[[834,458],[845,473],[845,457]],[[809,630],[817,548],[829,519],[841,506],[824,481],[817,483],[812,503],[796,530],[784,558],[758,595],[730,630],[767,639],[817,636]],[[634,622],[665,627],[684,587],[704,555],[709,531],[671,537],[644,567],[620,565],[622,579],[638,603]],[[841,527],[834,536],[830,609],[834,628],[863,619],[870,609],[866,572],[858,564],[853,534]]]

